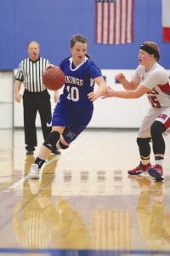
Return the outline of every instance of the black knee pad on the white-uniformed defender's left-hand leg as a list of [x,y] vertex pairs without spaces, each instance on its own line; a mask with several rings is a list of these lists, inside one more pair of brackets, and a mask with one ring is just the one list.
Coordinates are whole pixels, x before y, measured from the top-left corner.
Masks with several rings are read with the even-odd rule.
[[137,144],[139,146],[139,153],[143,157],[150,156],[150,137],[137,137]]

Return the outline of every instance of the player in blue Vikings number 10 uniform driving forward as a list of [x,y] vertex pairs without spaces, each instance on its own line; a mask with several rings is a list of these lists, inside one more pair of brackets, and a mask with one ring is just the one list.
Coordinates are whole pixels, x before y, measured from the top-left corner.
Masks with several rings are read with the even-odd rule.
[[[71,56],[59,65],[65,73],[65,86],[54,109],[52,131],[31,165],[28,178],[39,178],[39,171],[54,145],[62,149],[69,147],[90,122],[94,112],[93,102],[105,95],[105,79],[99,67],[90,59],[87,49],[88,39],[83,35],[77,34],[71,38]],[[99,85],[95,91],[94,83]]]

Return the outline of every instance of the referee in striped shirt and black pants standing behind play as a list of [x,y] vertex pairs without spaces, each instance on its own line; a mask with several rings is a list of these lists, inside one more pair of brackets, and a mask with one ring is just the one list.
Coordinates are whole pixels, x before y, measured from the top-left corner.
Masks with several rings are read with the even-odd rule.
[[[46,139],[51,127],[47,125],[52,118],[51,102],[48,90],[42,84],[42,73],[49,61],[40,57],[40,45],[37,41],[27,44],[28,58],[20,61],[14,81],[14,99],[21,102],[20,87],[24,84],[23,108],[26,154],[33,154],[37,146],[36,116],[40,114],[42,135]],[[58,91],[54,91],[54,102],[58,101]],[[58,148],[52,150],[54,154],[60,154]]]

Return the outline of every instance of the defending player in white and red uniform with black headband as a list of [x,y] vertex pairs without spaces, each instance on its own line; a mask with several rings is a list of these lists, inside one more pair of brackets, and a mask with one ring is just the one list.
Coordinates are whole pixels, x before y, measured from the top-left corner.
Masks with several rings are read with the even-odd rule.
[[[141,44],[138,58],[139,67],[136,68],[131,81],[127,81],[122,73],[116,75],[125,91],[109,88],[104,98],[133,99],[146,94],[150,110],[142,121],[137,137],[140,163],[128,171],[128,174],[149,172],[151,177],[160,181],[163,180],[162,163],[166,148],[163,135],[170,129],[170,84],[166,70],[158,64],[160,49],[155,42],[146,41]],[[150,142],[155,156],[155,166],[150,164]]]

